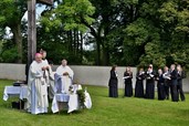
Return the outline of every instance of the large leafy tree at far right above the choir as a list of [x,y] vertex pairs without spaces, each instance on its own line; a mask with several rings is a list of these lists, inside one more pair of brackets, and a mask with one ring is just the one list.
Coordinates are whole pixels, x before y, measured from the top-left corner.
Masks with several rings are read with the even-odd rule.
[[188,4],[180,0],[147,0],[140,6],[139,18],[125,29],[125,44],[145,49],[137,56],[140,65],[188,66]]

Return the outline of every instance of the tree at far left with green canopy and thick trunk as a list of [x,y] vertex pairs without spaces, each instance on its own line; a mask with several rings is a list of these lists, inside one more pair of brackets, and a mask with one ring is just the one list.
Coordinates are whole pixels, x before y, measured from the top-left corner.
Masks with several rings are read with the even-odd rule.
[[27,11],[25,0],[1,0],[0,24],[3,29],[9,27],[12,31],[12,41],[17,44],[17,62],[22,63],[22,33],[21,19]]

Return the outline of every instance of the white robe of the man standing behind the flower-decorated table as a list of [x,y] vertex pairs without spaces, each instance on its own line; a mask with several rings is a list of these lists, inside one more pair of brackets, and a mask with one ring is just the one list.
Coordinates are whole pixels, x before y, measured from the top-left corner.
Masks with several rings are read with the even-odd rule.
[[[63,75],[63,73],[67,72],[69,75]],[[69,88],[70,86],[72,85],[72,81],[73,81],[73,71],[71,70],[70,66],[63,66],[63,65],[60,65],[57,69],[56,69],[56,74],[61,76],[61,80],[62,80],[62,88],[61,88],[61,92],[62,93],[69,93]]]

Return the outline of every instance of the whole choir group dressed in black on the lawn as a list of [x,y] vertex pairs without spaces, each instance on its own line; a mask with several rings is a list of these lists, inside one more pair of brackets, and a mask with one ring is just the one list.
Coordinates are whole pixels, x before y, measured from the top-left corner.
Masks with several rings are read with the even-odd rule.
[[[185,101],[185,94],[182,91],[182,78],[186,77],[181,65],[171,64],[170,69],[165,66],[154,71],[153,64],[148,65],[147,71],[140,67],[136,74],[135,94],[133,93],[133,72],[130,67],[126,67],[124,73],[125,81],[125,94],[124,96],[140,98],[155,98],[155,82],[157,81],[158,99],[169,99],[171,95],[172,102],[178,102],[179,97]],[[144,90],[144,81],[146,80],[146,90]],[[111,70],[111,78],[108,82],[109,97],[118,97],[118,75],[116,65]]]

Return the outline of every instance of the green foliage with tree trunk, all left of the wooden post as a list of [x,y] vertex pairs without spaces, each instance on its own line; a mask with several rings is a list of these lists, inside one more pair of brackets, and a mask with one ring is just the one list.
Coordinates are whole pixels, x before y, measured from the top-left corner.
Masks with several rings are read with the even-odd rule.
[[[2,62],[18,62],[22,63],[22,30],[21,30],[21,19],[27,11],[27,1],[25,0],[1,0],[0,1],[0,31],[4,31],[6,28],[11,29],[12,36],[6,38],[6,32],[0,32],[1,42],[11,41],[9,43],[10,46],[14,46],[11,49],[10,46],[4,45],[1,52],[2,57],[0,59]],[[4,35],[4,38],[2,38]],[[7,44],[7,43],[6,43]],[[6,55],[6,57],[3,56]],[[8,57],[7,57],[8,55]],[[10,57],[11,55],[12,57]],[[9,59],[9,60],[7,60]]]

